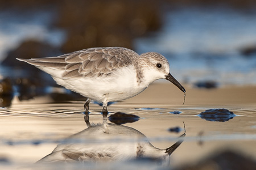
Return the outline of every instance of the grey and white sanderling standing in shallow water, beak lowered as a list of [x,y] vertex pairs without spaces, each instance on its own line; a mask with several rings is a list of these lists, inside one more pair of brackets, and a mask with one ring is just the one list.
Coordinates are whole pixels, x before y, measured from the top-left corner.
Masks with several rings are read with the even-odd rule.
[[169,80],[185,94],[185,88],[170,74],[167,59],[156,52],[139,55],[130,49],[108,47],[58,57],[16,59],[38,67],[57,84],[87,97],[86,114],[90,100],[102,103],[102,113],[108,114],[108,102],[138,95],[158,79]]

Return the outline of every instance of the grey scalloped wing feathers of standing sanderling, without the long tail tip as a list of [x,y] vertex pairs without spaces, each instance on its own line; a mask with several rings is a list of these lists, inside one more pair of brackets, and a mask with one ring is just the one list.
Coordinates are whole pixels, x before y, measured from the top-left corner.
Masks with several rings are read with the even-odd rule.
[[108,76],[121,67],[131,65],[138,54],[126,48],[91,48],[65,58],[64,79],[80,74],[83,77]]

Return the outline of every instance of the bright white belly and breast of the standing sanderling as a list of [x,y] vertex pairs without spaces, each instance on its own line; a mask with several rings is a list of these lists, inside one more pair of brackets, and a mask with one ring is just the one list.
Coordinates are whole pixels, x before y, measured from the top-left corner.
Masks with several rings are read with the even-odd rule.
[[[59,75],[59,74],[58,74]],[[53,76],[53,75],[52,75]],[[89,99],[109,102],[128,99],[142,92],[148,84],[138,83],[134,68],[124,67],[114,75],[100,78],[53,79],[65,88]]]

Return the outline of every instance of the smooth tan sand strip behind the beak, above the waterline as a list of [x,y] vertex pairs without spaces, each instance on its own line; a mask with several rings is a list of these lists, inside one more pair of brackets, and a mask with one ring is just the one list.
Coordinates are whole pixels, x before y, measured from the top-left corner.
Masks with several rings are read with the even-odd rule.
[[[192,88],[184,84],[187,105],[251,105],[256,103],[256,86],[229,86],[213,89]],[[152,83],[126,103],[182,105],[183,92],[171,83]]]

